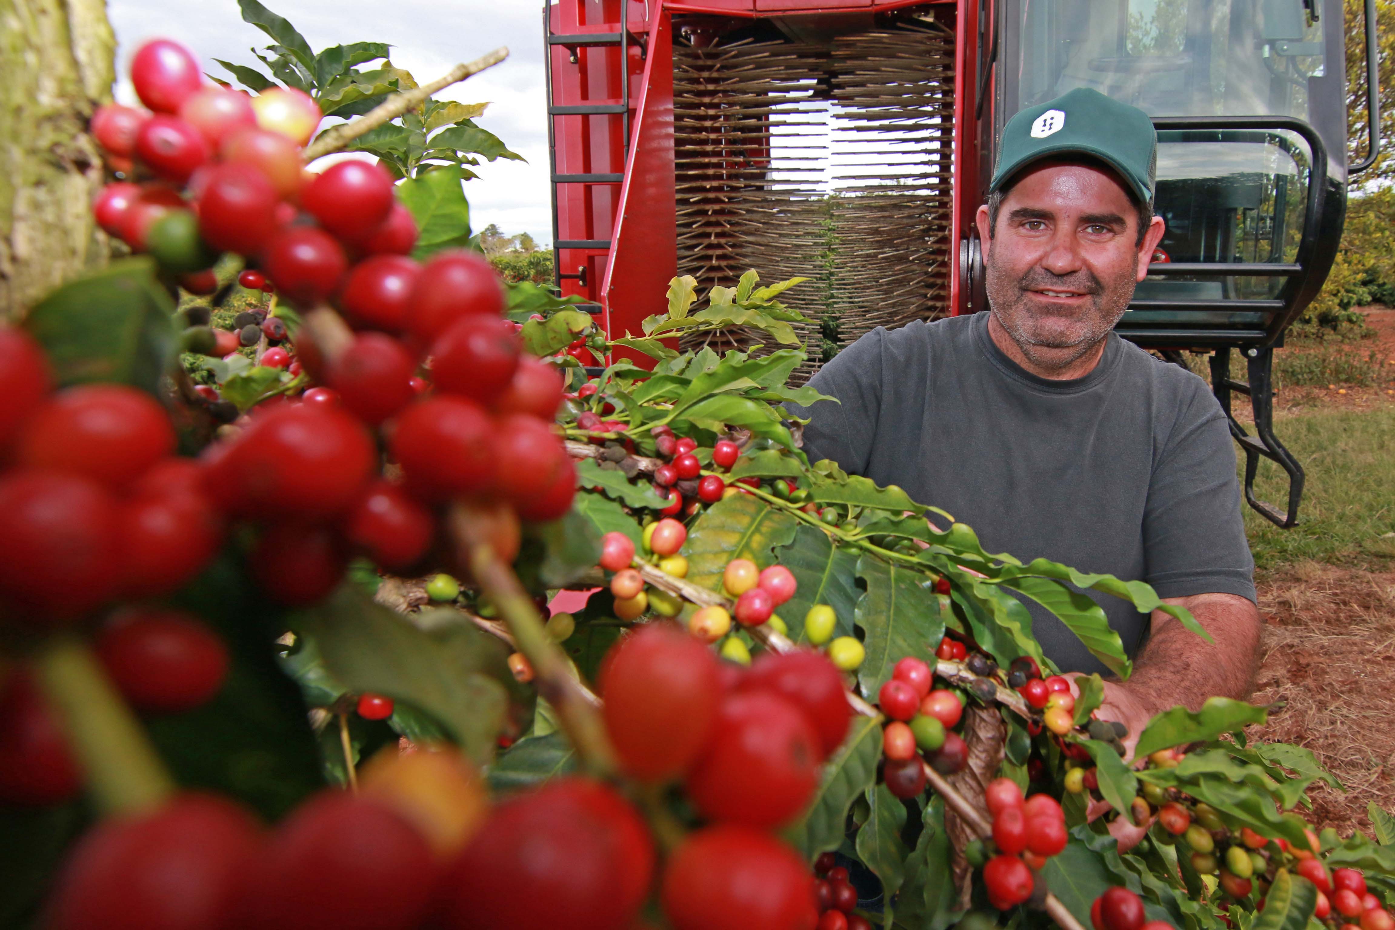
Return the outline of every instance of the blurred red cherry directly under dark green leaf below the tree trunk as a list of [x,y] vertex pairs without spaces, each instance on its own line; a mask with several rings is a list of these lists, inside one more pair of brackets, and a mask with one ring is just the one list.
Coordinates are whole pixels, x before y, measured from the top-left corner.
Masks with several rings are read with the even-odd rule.
[[119,489],[174,450],[165,409],[144,390],[82,385],[54,395],[20,436],[18,462]]

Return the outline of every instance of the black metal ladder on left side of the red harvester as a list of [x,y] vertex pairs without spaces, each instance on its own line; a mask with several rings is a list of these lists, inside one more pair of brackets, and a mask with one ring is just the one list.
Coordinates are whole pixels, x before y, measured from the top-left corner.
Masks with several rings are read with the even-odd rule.
[[[562,4],[578,4],[579,0],[562,0]],[[625,180],[624,171],[589,171],[565,173],[557,170],[557,117],[559,116],[618,116],[622,123],[624,162],[629,160],[629,128],[631,128],[631,98],[629,98],[629,49],[638,46],[640,57],[644,56],[644,42],[629,31],[629,0],[619,3],[619,29],[615,32],[579,32],[554,33],[551,21],[551,4],[543,6],[543,35],[545,36],[544,70],[547,81],[547,158],[550,195],[552,206],[552,269],[555,283],[561,286],[564,280],[576,280],[583,289],[590,289],[598,282],[590,282],[586,265],[578,265],[575,272],[564,272],[561,265],[564,250],[610,251],[608,238],[569,238],[561,237],[561,223],[558,220],[558,185],[561,184],[621,184]],[[619,103],[580,103],[557,105],[552,93],[552,47],[562,46],[571,53],[571,63],[579,64],[580,50],[604,46],[619,47]],[[594,294],[593,294],[594,297]],[[578,304],[578,310],[590,314],[600,314],[600,303]]]

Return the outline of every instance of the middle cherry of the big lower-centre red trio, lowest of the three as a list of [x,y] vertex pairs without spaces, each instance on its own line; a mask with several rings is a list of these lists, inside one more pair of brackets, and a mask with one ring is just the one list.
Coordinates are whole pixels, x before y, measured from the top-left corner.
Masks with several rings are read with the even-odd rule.
[[728,694],[706,753],[688,774],[688,798],[711,820],[773,828],[804,810],[819,784],[819,738],[788,699]]

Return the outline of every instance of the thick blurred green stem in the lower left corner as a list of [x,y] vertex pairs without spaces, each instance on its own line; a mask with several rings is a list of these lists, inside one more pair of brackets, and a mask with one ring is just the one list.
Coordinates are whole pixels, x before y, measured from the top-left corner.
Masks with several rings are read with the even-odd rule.
[[103,814],[148,810],[174,793],[174,779],[145,728],[82,640],[52,637],[35,665]]

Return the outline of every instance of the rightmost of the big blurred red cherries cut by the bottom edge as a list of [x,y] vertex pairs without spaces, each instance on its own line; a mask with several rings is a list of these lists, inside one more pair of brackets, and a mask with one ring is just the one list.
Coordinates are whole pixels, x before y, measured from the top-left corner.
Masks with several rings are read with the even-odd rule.
[[809,930],[819,919],[812,884],[783,842],[723,824],[691,834],[674,852],[660,902],[674,930]]

